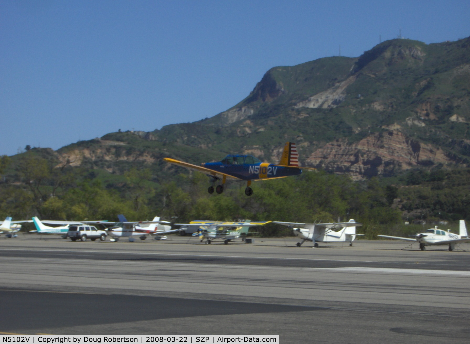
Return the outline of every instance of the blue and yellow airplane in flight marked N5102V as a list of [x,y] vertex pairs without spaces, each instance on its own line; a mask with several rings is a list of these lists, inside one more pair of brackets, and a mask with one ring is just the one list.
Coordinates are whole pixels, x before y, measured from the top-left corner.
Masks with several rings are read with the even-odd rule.
[[251,155],[227,155],[222,161],[203,163],[201,166],[185,163],[183,161],[164,158],[164,161],[177,164],[192,170],[204,172],[211,179],[208,192],[221,194],[224,191],[225,182],[228,179],[246,180],[245,195],[251,196],[253,189],[250,187],[253,180],[268,180],[295,176],[302,173],[302,169],[314,170],[310,167],[298,165],[298,153],[295,143],[286,142],[279,164],[263,163]]

